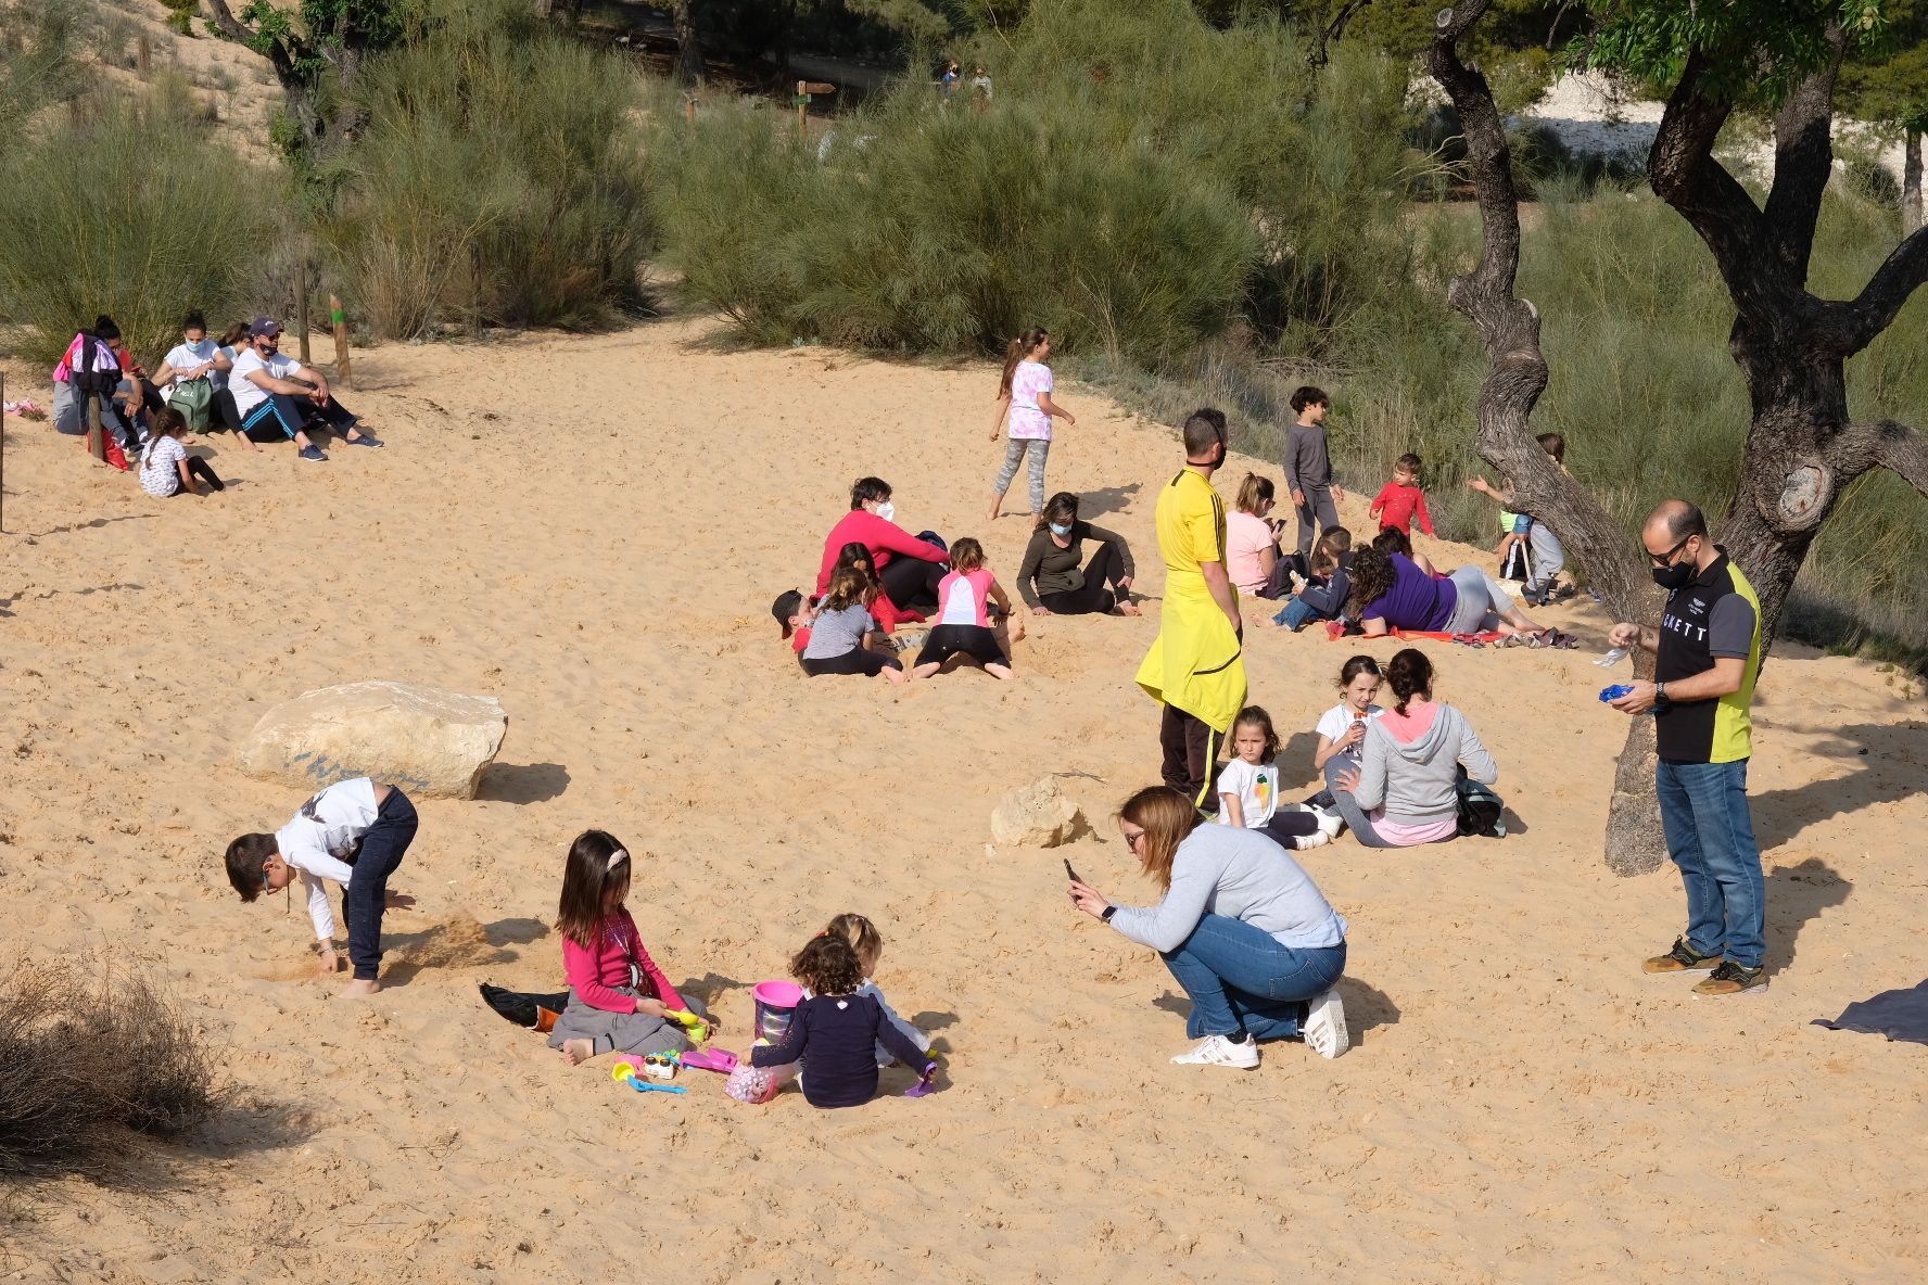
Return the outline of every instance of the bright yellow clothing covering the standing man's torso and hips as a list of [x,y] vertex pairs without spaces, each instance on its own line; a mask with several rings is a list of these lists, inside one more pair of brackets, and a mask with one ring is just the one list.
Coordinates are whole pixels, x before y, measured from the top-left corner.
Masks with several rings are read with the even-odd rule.
[[[1188,551],[1182,547],[1184,509],[1207,503],[1201,489],[1211,497],[1217,547]],[[1193,516],[1203,514],[1195,511]],[[1159,636],[1138,667],[1138,686],[1151,699],[1186,711],[1222,736],[1245,705],[1245,657],[1238,632],[1197,570],[1199,561],[1224,566],[1224,501],[1190,468],[1159,497],[1159,549],[1165,555],[1165,611]],[[1236,601],[1238,588],[1232,595]]]

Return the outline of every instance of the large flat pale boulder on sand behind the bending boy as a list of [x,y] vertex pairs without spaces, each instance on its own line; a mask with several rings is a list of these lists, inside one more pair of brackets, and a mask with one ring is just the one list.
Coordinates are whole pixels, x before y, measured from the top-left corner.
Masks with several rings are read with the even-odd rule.
[[347,682],[264,713],[237,757],[249,776],[299,790],[372,776],[411,796],[472,800],[507,732],[509,715],[492,695]]

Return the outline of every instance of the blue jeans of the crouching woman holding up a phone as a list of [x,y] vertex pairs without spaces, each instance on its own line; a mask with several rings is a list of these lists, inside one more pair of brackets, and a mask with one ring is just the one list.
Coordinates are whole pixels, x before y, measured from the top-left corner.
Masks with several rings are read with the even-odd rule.
[[1346,971],[1346,944],[1298,950],[1265,929],[1205,915],[1163,959],[1192,996],[1192,1038],[1244,1031],[1255,1040],[1294,1040],[1305,1000],[1330,990]]

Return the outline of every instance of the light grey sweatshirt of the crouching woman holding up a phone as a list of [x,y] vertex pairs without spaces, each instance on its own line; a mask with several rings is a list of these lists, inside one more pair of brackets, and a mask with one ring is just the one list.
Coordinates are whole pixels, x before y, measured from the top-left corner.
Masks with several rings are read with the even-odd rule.
[[1205,915],[1269,932],[1280,946],[1311,950],[1346,940],[1346,921],[1265,830],[1201,825],[1172,857],[1172,886],[1157,905],[1120,905],[1111,927],[1139,946],[1176,950]]

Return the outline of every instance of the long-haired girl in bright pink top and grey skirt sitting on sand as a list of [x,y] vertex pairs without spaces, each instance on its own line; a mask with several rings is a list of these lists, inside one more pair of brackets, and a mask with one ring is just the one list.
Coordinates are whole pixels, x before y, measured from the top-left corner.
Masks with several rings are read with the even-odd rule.
[[629,850],[611,834],[584,830],[569,846],[555,913],[569,1004],[549,1033],[549,1048],[561,1048],[569,1065],[607,1052],[683,1052],[690,1040],[669,1013],[708,1017],[700,1004],[677,994],[642,948],[636,921],[623,905],[629,877]]

